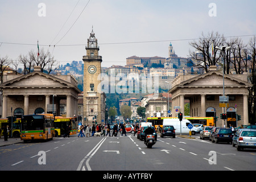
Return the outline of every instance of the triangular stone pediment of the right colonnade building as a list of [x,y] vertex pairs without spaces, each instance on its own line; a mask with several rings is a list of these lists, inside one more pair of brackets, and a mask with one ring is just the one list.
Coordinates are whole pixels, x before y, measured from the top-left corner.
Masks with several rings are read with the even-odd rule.
[[[251,86],[248,82],[232,75],[224,75],[224,83],[225,86]],[[212,71],[183,81],[179,86],[223,86],[223,75],[220,72]]]

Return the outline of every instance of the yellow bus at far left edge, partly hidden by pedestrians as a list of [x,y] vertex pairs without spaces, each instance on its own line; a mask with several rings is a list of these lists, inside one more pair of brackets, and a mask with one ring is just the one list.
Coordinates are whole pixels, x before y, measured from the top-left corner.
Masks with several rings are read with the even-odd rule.
[[[11,130],[10,119],[8,118],[0,119],[0,128],[2,130],[2,133],[3,133],[3,128],[5,128],[7,125],[9,126],[9,130]],[[0,133],[0,135],[2,135],[2,133]],[[9,136],[10,136],[10,133],[9,133]],[[13,119],[13,137],[15,138],[20,137],[20,118]]]

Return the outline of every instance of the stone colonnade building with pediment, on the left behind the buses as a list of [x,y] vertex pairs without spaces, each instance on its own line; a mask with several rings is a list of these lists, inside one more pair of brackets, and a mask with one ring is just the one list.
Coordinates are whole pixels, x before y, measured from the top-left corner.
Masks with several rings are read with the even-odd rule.
[[[11,115],[60,113],[60,100],[67,100],[66,117],[77,116],[77,97],[81,93],[71,75],[53,76],[35,66],[27,75],[4,75],[2,89],[2,118]],[[52,108],[53,107],[53,108]],[[11,111],[13,113],[11,113]]]

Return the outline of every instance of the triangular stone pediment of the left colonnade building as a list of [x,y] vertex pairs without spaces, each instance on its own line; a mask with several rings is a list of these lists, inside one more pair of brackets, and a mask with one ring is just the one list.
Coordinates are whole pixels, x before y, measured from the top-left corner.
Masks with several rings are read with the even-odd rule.
[[42,72],[33,72],[20,76],[10,81],[3,82],[0,86],[12,87],[52,87],[52,86],[73,86],[71,83]]

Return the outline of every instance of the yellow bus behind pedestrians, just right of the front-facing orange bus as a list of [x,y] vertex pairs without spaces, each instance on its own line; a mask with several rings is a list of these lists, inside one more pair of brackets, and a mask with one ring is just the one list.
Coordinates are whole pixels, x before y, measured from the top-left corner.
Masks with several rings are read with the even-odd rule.
[[54,119],[55,137],[64,135],[68,126],[71,128],[69,135],[75,135],[77,133],[76,118],[64,118],[61,116],[56,116]]

